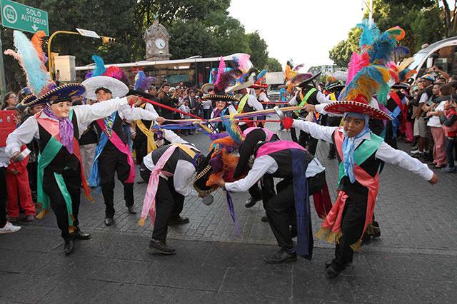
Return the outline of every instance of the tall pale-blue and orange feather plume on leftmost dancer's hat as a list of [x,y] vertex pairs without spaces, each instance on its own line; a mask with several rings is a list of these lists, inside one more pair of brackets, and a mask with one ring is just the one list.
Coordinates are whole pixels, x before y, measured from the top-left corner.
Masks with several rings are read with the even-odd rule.
[[[5,51],[5,54],[14,56],[14,59],[19,61],[26,75],[27,86],[31,89],[32,93],[40,97],[51,88],[55,88],[56,83],[52,81],[51,76],[46,71],[46,66],[44,66],[44,62],[42,61],[43,56],[40,58],[36,52],[36,46],[21,31],[14,31],[13,36],[16,51],[9,49]],[[39,36],[34,40],[39,41]]]

